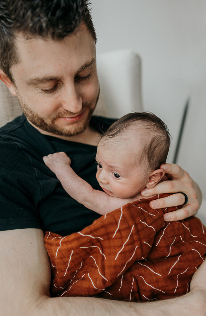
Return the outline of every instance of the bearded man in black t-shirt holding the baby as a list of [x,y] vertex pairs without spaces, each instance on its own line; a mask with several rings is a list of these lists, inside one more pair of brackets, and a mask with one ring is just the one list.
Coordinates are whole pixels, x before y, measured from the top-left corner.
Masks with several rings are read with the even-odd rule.
[[[0,133],[2,315],[164,315],[166,308],[170,314],[202,315],[205,263],[195,273],[191,291],[170,301],[130,304],[88,297],[50,298],[51,271],[43,231],[70,234],[95,217],[67,196],[42,157],[70,151],[76,173],[96,188],[93,160],[98,132],[100,125],[107,128],[112,120],[90,120],[99,84],[96,36],[87,2],[0,1],[0,19],[1,80],[18,97],[27,118],[17,118]],[[179,166],[163,167],[175,181],[160,183],[147,196],[183,191],[188,203],[168,219],[194,215],[201,203],[198,186]],[[181,205],[185,197],[177,193],[156,203],[151,206]]]

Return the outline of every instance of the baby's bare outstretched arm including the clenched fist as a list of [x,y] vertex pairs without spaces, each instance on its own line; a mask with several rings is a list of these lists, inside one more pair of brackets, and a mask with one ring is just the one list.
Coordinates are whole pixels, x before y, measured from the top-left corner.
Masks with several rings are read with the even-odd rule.
[[64,152],[44,156],[43,160],[56,174],[64,190],[89,210],[104,215],[131,202],[130,199],[111,197],[105,192],[94,190],[70,167],[71,160]]

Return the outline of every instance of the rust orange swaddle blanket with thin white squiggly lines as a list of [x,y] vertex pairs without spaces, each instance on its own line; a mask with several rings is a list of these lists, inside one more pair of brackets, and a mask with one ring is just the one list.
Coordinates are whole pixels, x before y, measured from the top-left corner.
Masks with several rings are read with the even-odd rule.
[[126,204],[81,232],[46,232],[51,296],[148,301],[185,294],[205,258],[206,228],[196,217],[164,222],[176,207],[152,210],[156,198]]

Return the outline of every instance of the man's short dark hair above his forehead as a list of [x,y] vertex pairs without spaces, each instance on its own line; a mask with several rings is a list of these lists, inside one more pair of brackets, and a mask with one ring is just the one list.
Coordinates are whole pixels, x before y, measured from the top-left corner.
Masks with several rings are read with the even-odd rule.
[[[0,69],[13,82],[16,33],[62,40],[84,22],[96,42],[88,0],[0,0]],[[14,83],[14,82],[13,82]]]

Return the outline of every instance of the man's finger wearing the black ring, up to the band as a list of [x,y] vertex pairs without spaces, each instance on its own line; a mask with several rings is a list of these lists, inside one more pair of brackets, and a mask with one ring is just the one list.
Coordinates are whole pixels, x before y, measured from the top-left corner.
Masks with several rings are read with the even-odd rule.
[[174,205],[182,205],[185,203],[185,197],[181,193],[172,194],[168,197],[162,197],[160,199],[151,201],[149,206],[152,209],[163,209]]

